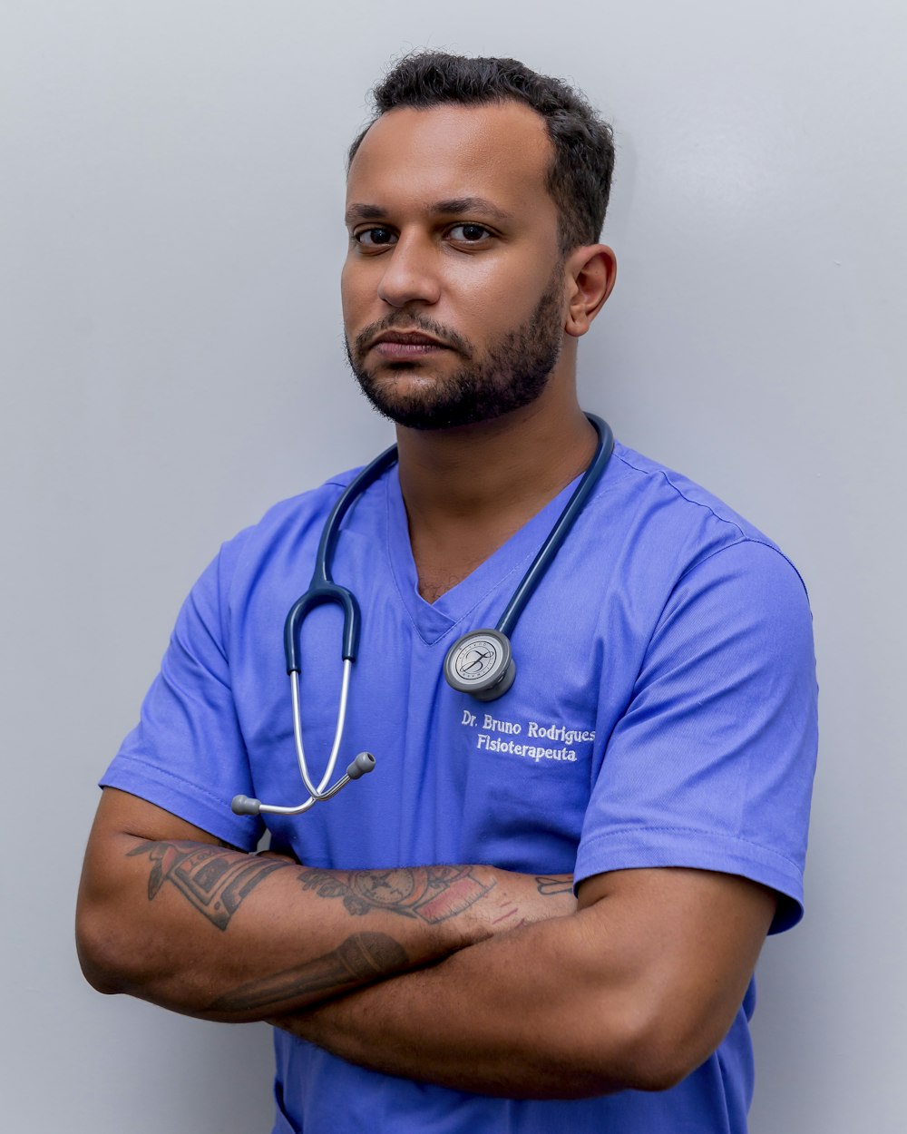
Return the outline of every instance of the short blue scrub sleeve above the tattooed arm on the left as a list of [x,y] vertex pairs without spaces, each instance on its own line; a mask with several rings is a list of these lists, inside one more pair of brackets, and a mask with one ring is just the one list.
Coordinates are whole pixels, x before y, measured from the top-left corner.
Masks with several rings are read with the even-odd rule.
[[223,594],[236,542],[193,587],[177,618],[138,726],[101,779],[246,850],[262,833],[230,801],[254,795],[230,684]]

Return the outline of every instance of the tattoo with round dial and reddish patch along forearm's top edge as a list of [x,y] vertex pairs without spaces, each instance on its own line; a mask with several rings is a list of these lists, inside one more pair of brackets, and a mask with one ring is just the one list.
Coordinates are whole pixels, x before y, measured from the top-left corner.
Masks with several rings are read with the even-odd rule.
[[320,898],[342,898],[354,915],[388,909],[430,924],[456,917],[494,886],[482,882],[469,866],[307,870],[299,881]]

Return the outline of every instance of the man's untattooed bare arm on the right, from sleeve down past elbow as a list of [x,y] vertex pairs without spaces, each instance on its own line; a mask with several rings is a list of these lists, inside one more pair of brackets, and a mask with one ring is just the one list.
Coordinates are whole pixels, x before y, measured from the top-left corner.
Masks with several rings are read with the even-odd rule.
[[743,879],[695,871],[602,883],[575,914],[271,1022],[350,1063],[455,1090],[664,1090],[726,1034],[774,900]]

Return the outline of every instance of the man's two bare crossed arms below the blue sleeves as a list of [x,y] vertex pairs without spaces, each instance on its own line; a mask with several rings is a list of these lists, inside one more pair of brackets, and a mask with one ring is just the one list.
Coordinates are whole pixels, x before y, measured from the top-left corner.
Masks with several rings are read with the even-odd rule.
[[268,1018],[354,1063],[525,1098],[660,1090],[720,1043],[774,911],[727,874],[579,890],[489,866],[310,870],[107,789],[77,937],[104,992]]

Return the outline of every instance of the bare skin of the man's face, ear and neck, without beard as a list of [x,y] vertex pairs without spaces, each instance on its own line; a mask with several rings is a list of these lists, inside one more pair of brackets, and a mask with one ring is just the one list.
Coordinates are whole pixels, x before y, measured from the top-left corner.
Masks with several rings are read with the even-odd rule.
[[[558,213],[544,187],[550,155],[541,119],[517,103],[401,109],[372,127],[350,168],[341,277],[349,342],[389,320],[402,331],[427,319],[481,361],[525,325],[557,274],[562,344],[535,401],[457,429],[398,426],[413,552],[431,601],[544,507],[594,450],[576,398],[576,344],[611,293],[616,257],[588,245],[561,263]],[[440,208],[457,201],[475,203]],[[466,240],[465,225],[488,236]],[[381,231],[392,243],[375,243]],[[385,397],[401,403],[431,398],[433,383],[464,362],[436,349],[404,369],[381,344],[361,361]]]

